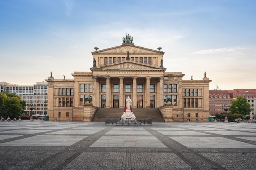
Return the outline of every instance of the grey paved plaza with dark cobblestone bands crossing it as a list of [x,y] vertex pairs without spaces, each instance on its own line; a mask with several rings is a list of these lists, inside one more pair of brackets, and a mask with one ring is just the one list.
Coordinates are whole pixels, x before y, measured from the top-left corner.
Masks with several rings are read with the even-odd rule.
[[256,124],[0,122],[0,170],[256,170]]

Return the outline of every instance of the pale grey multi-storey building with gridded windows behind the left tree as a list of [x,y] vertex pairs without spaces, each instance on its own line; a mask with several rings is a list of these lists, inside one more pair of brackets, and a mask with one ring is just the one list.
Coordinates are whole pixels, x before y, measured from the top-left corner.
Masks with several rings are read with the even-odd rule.
[[9,93],[16,93],[21,100],[27,102],[23,116],[29,117],[31,110],[29,104],[35,104],[36,108],[32,111],[33,115],[47,115],[48,106],[48,87],[47,82],[37,82],[34,85],[18,85],[7,82],[0,82],[0,89]]

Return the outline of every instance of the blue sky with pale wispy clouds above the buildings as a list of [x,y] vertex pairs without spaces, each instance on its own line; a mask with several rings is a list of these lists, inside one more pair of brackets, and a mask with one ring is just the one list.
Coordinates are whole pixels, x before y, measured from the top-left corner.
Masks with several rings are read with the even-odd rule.
[[[255,0],[0,0],[0,82],[90,71],[94,47],[162,47],[166,72],[256,89]],[[130,54],[132,55],[132,54]]]

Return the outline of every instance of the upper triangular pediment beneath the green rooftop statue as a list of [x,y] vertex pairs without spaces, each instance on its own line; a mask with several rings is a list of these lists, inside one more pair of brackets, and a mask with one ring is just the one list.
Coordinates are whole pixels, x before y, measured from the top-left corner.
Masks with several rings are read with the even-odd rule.
[[103,49],[99,51],[94,51],[92,54],[119,54],[119,53],[134,53],[134,54],[159,54],[159,53],[164,53],[162,51],[157,51],[157,50],[152,50],[152,49],[147,49],[141,46],[135,46],[132,43],[125,43],[121,46],[115,46],[109,49]]

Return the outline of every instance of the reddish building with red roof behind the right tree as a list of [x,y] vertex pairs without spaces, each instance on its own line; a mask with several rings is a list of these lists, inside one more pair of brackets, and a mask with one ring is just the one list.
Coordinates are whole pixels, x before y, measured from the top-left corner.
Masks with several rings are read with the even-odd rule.
[[[238,96],[247,98],[252,109],[250,119],[255,119],[256,89],[209,90],[209,114],[225,113],[222,106],[224,104],[231,105],[231,101]],[[229,113],[229,111],[227,111],[227,113]]]

